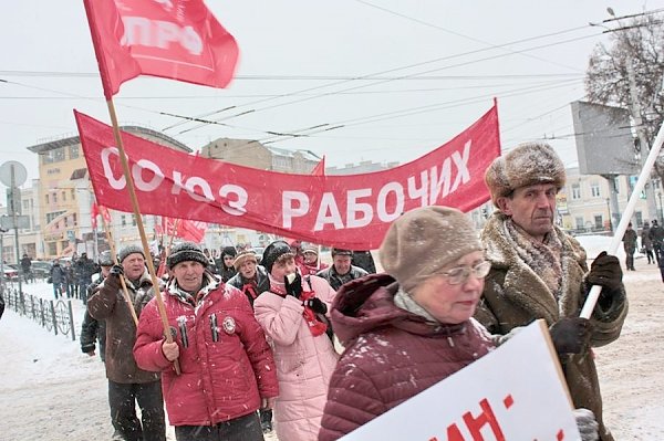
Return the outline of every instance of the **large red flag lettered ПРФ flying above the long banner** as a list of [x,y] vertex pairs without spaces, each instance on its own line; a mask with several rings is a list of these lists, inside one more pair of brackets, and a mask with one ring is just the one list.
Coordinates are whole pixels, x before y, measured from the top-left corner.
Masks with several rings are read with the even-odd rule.
[[83,0],[104,96],[138,75],[225,87],[238,45],[203,0]]

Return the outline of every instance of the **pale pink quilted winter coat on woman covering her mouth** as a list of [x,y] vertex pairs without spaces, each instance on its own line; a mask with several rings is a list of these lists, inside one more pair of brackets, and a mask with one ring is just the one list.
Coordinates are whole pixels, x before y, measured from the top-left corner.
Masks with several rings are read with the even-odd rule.
[[[332,287],[324,279],[308,277],[315,296],[329,308],[334,297]],[[310,291],[305,281],[302,288]],[[253,309],[274,350],[279,378],[277,437],[279,441],[315,440],[338,359],[332,343],[325,334],[311,334],[302,317],[302,302],[291,295],[283,297],[268,291],[256,298]]]

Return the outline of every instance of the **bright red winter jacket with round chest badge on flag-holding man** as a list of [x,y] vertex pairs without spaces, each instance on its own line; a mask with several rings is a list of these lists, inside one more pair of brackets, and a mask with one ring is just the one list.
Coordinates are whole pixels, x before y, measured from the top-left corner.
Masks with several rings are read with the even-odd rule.
[[[181,374],[176,375],[162,353],[164,328],[155,300],[141,314],[134,345],[141,368],[162,371],[170,423],[212,426],[255,412],[261,397],[277,397],[272,350],[247,296],[217,279],[208,279],[204,298],[194,308],[173,290],[172,282],[164,292],[164,304],[169,325],[177,329]],[[187,347],[180,329],[183,321]]]

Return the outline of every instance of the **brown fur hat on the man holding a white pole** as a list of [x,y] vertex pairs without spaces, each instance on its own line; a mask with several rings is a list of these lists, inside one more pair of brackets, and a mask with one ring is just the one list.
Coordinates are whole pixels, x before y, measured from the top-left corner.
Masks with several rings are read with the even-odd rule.
[[564,187],[564,165],[548,144],[520,144],[507,155],[494,160],[485,174],[485,182],[491,192],[491,200],[509,196],[517,188],[537,183],[554,183],[560,190]]

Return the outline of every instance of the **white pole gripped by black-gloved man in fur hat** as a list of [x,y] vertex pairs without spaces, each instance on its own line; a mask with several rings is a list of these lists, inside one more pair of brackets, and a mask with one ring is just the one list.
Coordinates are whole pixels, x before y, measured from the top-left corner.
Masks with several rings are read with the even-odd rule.
[[[606,253],[615,255],[618,252],[618,246],[620,242],[622,242],[622,238],[627,230],[627,223],[630,223],[630,219],[632,219],[632,214],[634,213],[634,208],[636,207],[636,202],[639,201],[640,195],[643,191],[645,183],[650,179],[651,170],[653,169],[655,161],[657,160],[657,156],[660,156],[660,150],[662,149],[662,144],[664,143],[664,124],[660,126],[660,132],[657,132],[657,137],[653,144],[653,148],[651,148],[650,154],[645,162],[643,164],[643,168],[641,169],[641,174],[639,175],[639,180],[636,180],[636,185],[632,190],[632,195],[627,201],[627,206],[625,207],[625,211],[618,223],[618,228],[615,229],[615,233],[613,239],[611,240],[611,244],[609,245],[609,250]],[[645,148],[646,146],[641,146],[641,148]],[[643,154],[643,150],[642,150]],[[602,291],[602,286],[593,285],[590,292],[588,293],[588,297],[585,298],[585,303],[583,304],[583,308],[581,309],[580,316],[583,318],[590,318],[592,315],[592,311],[594,309],[598,300],[600,298],[600,292]]]

